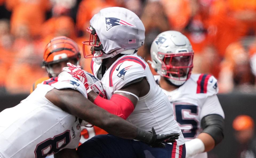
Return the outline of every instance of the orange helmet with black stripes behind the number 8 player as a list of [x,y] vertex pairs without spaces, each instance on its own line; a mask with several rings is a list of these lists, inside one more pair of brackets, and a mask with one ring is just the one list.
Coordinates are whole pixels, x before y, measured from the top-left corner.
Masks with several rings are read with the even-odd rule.
[[66,36],[58,36],[51,39],[46,45],[43,55],[43,66],[48,68],[49,64],[67,59],[76,59],[78,62],[80,57],[80,50],[75,41]]

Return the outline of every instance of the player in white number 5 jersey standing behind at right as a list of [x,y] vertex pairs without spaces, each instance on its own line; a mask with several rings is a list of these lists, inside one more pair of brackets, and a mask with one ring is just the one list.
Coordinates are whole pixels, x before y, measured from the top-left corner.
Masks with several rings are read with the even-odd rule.
[[223,139],[224,113],[217,80],[207,74],[191,74],[194,51],[182,33],[165,31],[153,41],[151,66],[156,82],[168,96],[186,140],[186,157],[207,158]]

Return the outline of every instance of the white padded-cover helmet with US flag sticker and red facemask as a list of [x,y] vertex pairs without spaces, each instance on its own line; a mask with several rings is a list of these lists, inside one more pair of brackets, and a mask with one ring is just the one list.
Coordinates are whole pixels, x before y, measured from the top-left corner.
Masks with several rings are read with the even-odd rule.
[[94,46],[94,52],[85,58],[101,59],[114,57],[117,54],[136,53],[145,40],[145,27],[139,17],[132,11],[121,7],[109,7],[100,10],[90,20],[87,28],[90,40],[84,45]]

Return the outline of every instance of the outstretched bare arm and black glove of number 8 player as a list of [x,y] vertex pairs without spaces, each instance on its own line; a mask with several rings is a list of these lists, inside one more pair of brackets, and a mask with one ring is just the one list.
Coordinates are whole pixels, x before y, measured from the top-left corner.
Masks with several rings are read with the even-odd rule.
[[125,139],[137,139],[155,147],[161,147],[162,142],[173,142],[179,134],[155,134],[137,128],[124,119],[108,113],[91,103],[80,92],[73,89],[52,89],[45,97],[62,110],[88,121],[115,136]]

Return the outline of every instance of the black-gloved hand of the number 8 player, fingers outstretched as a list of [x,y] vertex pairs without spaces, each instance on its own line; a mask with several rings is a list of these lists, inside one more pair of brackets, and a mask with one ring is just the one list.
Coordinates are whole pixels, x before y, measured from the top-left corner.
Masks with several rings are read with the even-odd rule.
[[179,133],[171,133],[171,134],[156,134],[154,127],[152,127],[153,137],[152,140],[148,143],[151,147],[154,148],[164,148],[164,143],[174,143],[175,139],[179,138]]

